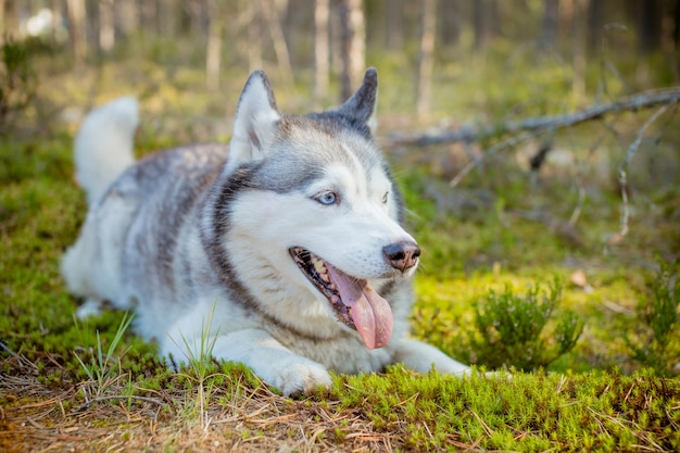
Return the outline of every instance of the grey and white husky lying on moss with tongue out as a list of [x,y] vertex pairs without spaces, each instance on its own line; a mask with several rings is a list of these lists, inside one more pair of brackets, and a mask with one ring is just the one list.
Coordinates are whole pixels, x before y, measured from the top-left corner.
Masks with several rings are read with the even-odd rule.
[[377,88],[369,68],[339,108],[285,115],[257,71],[228,146],[138,162],[135,99],[89,113],[75,139],[89,212],[62,261],[78,315],[134,311],[163,356],[241,362],[285,395],[331,370],[467,373],[408,338],[420,249],[374,141]]

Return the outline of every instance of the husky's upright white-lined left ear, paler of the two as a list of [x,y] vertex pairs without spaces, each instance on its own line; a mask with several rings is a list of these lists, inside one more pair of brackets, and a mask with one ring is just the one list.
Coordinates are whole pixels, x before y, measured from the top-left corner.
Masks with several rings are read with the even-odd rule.
[[281,117],[269,79],[263,71],[250,75],[236,109],[234,136],[229,143],[226,173],[264,156],[265,147],[274,137]]

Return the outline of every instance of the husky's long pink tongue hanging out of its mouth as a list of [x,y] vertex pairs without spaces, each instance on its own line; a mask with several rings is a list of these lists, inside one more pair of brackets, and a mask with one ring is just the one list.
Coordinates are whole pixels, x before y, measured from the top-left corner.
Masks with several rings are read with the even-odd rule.
[[368,349],[382,348],[392,337],[392,309],[367,280],[357,280],[332,266],[328,266],[330,278],[342,303],[350,309],[356,331]]

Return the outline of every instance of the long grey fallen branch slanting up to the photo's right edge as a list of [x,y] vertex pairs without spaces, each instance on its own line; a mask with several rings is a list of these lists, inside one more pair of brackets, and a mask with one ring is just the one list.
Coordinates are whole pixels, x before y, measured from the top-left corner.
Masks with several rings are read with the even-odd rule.
[[563,115],[539,116],[516,122],[500,123],[489,127],[464,127],[459,130],[451,130],[442,134],[416,134],[412,136],[393,135],[389,140],[393,144],[429,146],[451,143],[456,141],[474,142],[489,137],[500,137],[506,134],[528,131],[540,134],[546,130],[555,130],[575,126],[605,115],[619,112],[635,112],[650,109],[655,105],[672,105],[680,103],[680,87],[664,88],[642,91],[627,96],[608,104],[597,104],[585,110]]

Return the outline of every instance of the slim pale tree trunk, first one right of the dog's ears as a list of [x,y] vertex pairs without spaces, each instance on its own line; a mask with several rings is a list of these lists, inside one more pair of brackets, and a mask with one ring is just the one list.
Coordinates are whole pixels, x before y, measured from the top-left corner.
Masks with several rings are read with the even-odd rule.
[[416,98],[418,116],[425,115],[430,110],[436,21],[437,0],[423,0],[420,3],[420,52]]

